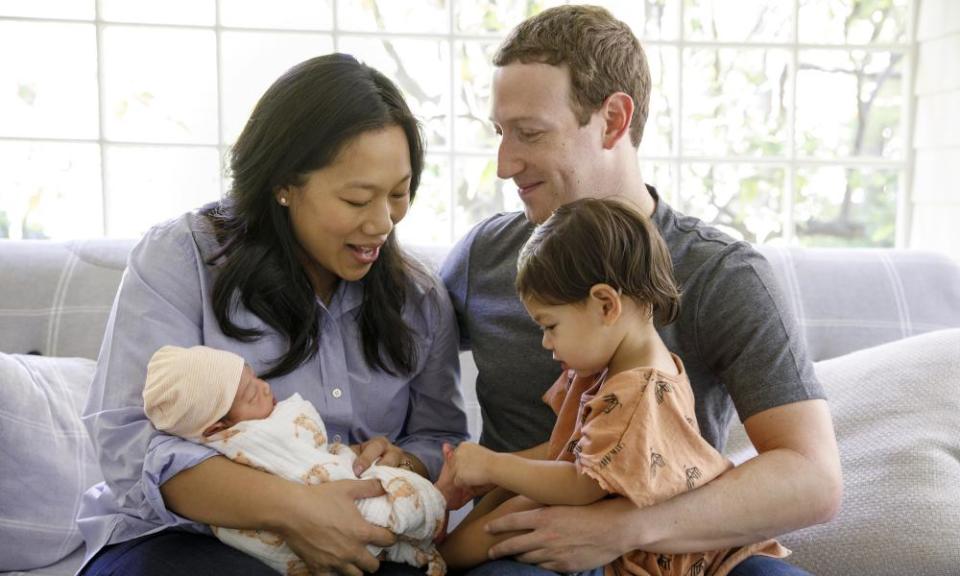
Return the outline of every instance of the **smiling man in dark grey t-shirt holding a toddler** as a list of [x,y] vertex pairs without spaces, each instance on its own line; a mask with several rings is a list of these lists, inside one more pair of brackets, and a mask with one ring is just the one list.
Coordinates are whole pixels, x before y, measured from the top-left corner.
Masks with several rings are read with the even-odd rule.
[[[768,263],[748,244],[674,212],[643,182],[637,147],[650,74],[639,41],[606,10],[562,6],[521,23],[494,64],[497,174],[517,185],[524,213],[477,225],[442,270],[462,344],[479,369],[481,443],[523,450],[553,426],[540,397],[560,368],[514,292],[520,247],[557,206],[619,195],[651,216],[670,247],[683,300],[679,320],[661,334],[686,365],[702,434],[722,449],[736,406],[759,456],[648,508],[618,498],[505,516],[488,528],[524,532],[491,555],[571,572],[629,550],[733,547],[832,518],[842,484],[829,410]],[[803,573],[762,562],[735,574]]]

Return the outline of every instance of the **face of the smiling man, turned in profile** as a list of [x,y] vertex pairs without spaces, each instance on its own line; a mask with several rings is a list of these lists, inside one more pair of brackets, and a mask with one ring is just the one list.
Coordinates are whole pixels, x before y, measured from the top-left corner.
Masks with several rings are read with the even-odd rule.
[[497,176],[514,181],[527,218],[538,224],[557,207],[603,190],[603,121],[595,113],[581,127],[570,89],[566,66],[515,62],[493,75]]

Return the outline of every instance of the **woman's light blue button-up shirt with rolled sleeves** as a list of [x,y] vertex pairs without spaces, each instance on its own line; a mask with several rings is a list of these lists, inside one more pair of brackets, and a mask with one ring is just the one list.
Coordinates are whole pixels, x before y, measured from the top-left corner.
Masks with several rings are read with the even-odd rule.
[[[203,344],[235,352],[263,373],[286,349],[283,337],[242,305],[238,324],[264,336],[239,342],[220,331],[211,302],[214,269],[204,263],[217,248],[204,218],[193,213],[153,228],[131,252],[83,415],[105,479],[80,505],[85,562],[108,544],[173,526],[209,533],[168,510],[160,486],[217,452],[153,428],[143,412],[147,362],[164,344]],[[408,289],[403,317],[417,364],[410,376],[391,376],[364,358],[357,323],[362,296],[361,283],[340,282],[329,306],[318,307],[317,354],[273,378],[273,392],[279,399],[298,392],[312,402],[331,438],[353,444],[386,436],[435,479],[441,444],[467,437],[453,308],[439,282]]]

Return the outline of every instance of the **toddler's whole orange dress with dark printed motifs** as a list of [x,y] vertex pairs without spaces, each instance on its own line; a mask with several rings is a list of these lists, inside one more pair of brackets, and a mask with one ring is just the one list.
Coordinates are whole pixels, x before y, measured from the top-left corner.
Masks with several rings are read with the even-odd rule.
[[[609,379],[563,374],[544,394],[557,413],[549,456],[576,462],[581,473],[638,507],[693,490],[733,464],[703,437],[693,391],[680,359],[679,375],[636,368]],[[607,565],[607,576],[723,576],[753,555],[783,558],[775,540],[697,554],[634,551]]]

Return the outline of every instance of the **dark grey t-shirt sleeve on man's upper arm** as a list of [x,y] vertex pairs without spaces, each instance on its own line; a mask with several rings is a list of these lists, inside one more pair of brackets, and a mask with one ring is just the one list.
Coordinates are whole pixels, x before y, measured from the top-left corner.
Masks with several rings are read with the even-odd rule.
[[694,305],[697,348],[741,421],[825,397],[793,309],[762,254],[743,244],[731,246],[705,275]]

